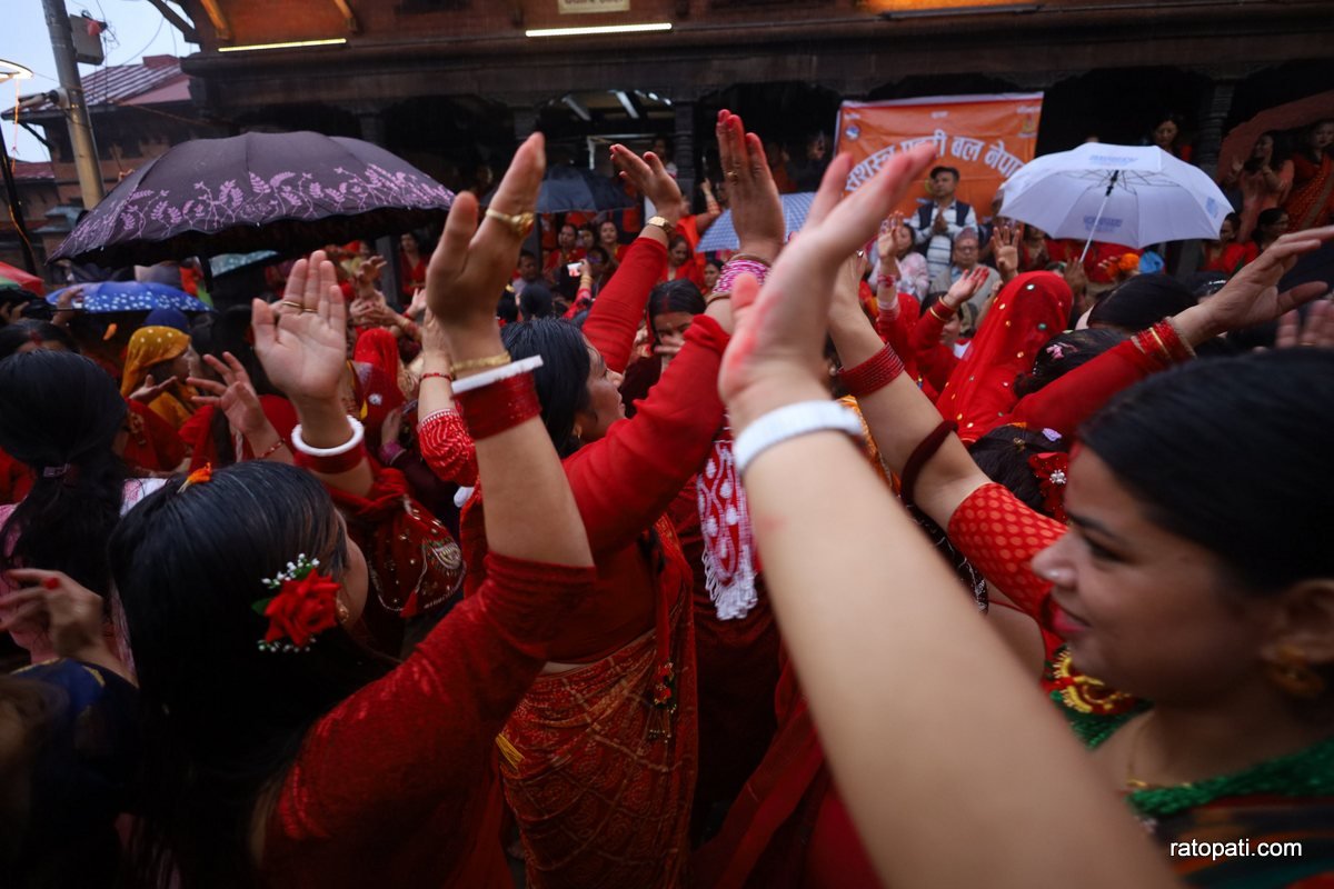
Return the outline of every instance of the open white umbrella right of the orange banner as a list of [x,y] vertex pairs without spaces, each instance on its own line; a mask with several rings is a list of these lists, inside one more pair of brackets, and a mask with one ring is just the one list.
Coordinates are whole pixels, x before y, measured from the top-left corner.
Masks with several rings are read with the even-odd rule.
[[[1127,247],[1218,239],[1231,205],[1198,167],[1157,145],[1086,143],[1043,155],[1002,185],[1002,215],[1051,237]],[[1081,255],[1081,261],[1083,255]]]

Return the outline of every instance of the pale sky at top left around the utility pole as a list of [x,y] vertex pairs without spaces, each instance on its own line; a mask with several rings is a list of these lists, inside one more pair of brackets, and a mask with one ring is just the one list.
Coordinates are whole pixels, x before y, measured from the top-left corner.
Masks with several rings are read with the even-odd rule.
[[[144,56],[188,56],[199,49],[185,43],[180,32],[167,21],[147,0],[65,0],[69,15],[88,12],[105,21],[103,52],[108,65],[125,65]],[[180,8],[176,8],[180,12]],[[33,72],[32,80],[0,83],[0,105],[13,108],[15,84],[19,95],[47,92],[60,84],[56,80],[56,61],[51,55],[51,32],[41,0],[0,0],[0,59],[13,61]],[[84,76],[96,71],[93,65],[79,65]],[[0,121],[5,145],[17,160],[49,160],[47,149],[23,127],[13,121]],[[17,135],[16,132],[17,131]]]

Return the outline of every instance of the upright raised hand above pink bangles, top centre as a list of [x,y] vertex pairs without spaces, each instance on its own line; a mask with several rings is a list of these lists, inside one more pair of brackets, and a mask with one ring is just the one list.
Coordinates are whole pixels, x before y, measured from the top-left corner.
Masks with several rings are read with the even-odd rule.
[[740,252],[771,263],[783,249],[787,227],[764,143],[746,132],[742,119],[727,109],[718,112],[716,129],[718,160],[727,179],[727,205]]

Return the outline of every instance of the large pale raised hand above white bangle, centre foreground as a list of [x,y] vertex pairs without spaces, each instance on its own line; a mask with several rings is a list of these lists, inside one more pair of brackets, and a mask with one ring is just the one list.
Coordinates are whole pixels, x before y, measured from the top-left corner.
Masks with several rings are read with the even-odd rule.
[[752,277],[739,279],[732,291],[738,328],[718,380],[736,428],[774,408],[824,397],[824,320],[839,264],[866,243],[934,157],[931,145],[894,155],[840,203],[852,160],[839,155],[824,172],[802,236],[779,256],[763,292]]

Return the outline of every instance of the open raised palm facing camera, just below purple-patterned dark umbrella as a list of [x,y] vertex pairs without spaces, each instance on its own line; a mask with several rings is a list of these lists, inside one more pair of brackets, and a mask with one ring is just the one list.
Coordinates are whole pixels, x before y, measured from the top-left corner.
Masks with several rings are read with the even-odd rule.
[[297,260],[279,304],[251,304],[255,352],[268,379],[295,401],[339,397],[347,373],[347,305],[324,251]]

